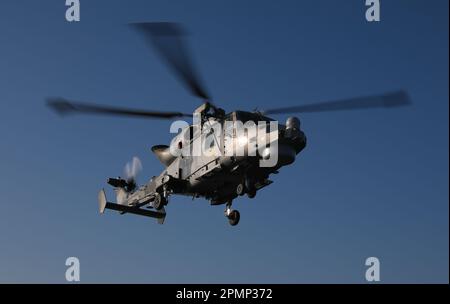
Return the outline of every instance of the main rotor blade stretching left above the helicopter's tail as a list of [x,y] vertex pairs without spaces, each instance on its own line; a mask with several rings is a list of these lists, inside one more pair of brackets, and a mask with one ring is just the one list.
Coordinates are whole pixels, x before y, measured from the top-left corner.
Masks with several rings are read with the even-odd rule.
[[103,106],[84,102],[72,102],[59,97],[48,98],[47,105],[60,115],[87,113],[87,114],[133,116],[142,118],[160,118],[160,119],[172,119],[175,117],[191,116],[191,114],[184,114],[180,112],[146,111],[129,108]]

